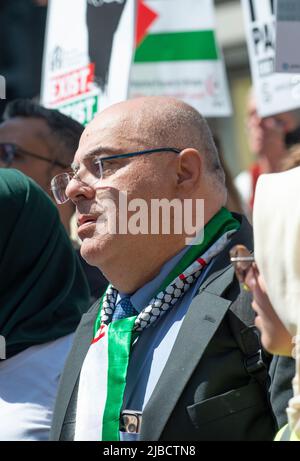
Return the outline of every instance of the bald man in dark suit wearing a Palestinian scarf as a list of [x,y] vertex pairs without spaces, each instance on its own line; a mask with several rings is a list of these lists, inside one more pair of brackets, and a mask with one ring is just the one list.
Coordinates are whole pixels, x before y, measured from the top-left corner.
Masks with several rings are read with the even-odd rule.
[[[114,105],[87,126],[72,168],[52,190],[76,205],[82,256],[110,286],[77,331],[51,439],[272,439],[270,359],[228,257],[252,248],[251,228],[224,208],[205,120],[169,98]],[[172,204],[164,222],[158,200]]]

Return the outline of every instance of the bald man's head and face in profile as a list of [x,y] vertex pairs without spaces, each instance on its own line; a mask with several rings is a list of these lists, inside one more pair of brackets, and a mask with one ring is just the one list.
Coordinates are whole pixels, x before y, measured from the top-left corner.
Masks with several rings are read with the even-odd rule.
[[[178,152],[173,152],[174,148]],[[141,152],[144,150],[150,152]],[[137,155],[126,155],[130,153]],[[154,155],[143,155],[150,153]],[[99,161],[101,180],[96,180]],[[125,233],[99,233],[97,226],[89,223],[79,227],[83,257],[101,268],[124,293],[134,292],[150,280],[183,248],[186,237],[194,237],[227,199],[224,172],[207,123],[193,108],[171,98],[132,99],[101,112],[81,137],[73,169],[81,181],[71,181],[66,193],[76,204],[79,220],[82,215],[99,216],[109,228],[116,211],[117,219],[122,215],[128,228],[137,218],[142,226]],[[125,215],[124,194],[128,203]],[[113,206],[104,207],[107,199]],[[158,203],[167,206],[167,216],[163,210],[156,214]],[[139,208],[145,213],[138,217],[135,211]],[[189,219],[195,223],[192,232]],[[168,230],[162,221],[169,223]],[[179,232],[176,223],[182,226]],[[135,273],[124,270],[129,260]]]

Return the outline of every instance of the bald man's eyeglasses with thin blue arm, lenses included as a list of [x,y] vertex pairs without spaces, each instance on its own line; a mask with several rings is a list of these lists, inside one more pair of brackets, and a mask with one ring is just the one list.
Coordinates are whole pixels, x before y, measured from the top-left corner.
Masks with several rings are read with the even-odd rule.
[[[121,168],[118,163],[119,159],[137,157],[138,155],[157,154],[159,152],[174,152],[175,154],[179,154],[181,150],[174,147],[161,147],[159,149],[129,152],[127,154],[111,155],[108,157],[100,157],[97,155],[87,156],[83,160],[83,166],[76,166],[74,171],[70,173],[61,173],[52,179],[51,190],[54,198],[59,205],[69,200],[66,189],[72,179],[93,187],[99,181],[107,179]],[[81,173],[79,171],[80,169],[82,170]]]

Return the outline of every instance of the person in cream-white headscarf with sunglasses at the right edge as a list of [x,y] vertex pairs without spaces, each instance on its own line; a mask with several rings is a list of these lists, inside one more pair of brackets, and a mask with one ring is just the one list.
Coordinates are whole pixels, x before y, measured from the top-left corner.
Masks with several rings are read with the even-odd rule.
[[[254,201],[254,255],[231,251],[239,280],[253,293],[255,325],[272,354],[293,357],[289,425],[278,440],[300,440],[300,167],[259,178]],[[284,370],[281,371],[282,373]]]

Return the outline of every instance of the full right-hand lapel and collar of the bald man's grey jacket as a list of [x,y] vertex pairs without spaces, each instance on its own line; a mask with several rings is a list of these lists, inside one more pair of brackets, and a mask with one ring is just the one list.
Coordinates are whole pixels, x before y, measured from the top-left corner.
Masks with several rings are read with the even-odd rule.
[[252,249],[253,244],[248,221],[239,220],[240,230],[217,257],[189,307],[166,366],[143,411],[141,440],[159,440],[179,397],[232,304],[221,297],[234,279],[229,249],[237,243],[245,243]]

